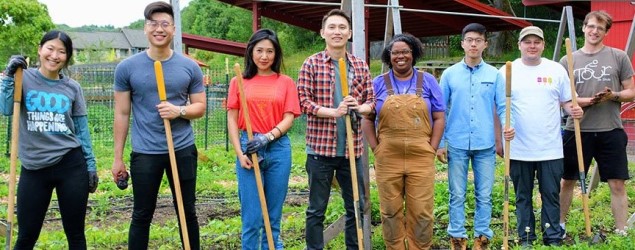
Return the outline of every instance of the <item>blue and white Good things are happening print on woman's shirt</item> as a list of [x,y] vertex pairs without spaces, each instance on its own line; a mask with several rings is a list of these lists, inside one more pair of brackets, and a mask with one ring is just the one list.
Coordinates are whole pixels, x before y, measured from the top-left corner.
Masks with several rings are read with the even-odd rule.
[[65,113],[71,108],[68,96],[31,90],[25,96],[28,131],[40,133],[70,133]]

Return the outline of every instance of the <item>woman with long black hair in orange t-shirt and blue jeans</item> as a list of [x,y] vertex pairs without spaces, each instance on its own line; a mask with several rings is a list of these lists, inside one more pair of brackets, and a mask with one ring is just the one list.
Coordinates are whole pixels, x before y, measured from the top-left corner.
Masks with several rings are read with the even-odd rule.
[[291,143],[286,132],[300,115],[298,92],[291,78],[280,73],[282,49],[276,34],[256,31],[245,51],[243,89],[254,137],[247,139],[236,78],[227,99],[227,128],[236,152],[242,249],[267,249],[256,179],[249,155],[258,154],[274,245],[282,249],[280,221],[291,172]]

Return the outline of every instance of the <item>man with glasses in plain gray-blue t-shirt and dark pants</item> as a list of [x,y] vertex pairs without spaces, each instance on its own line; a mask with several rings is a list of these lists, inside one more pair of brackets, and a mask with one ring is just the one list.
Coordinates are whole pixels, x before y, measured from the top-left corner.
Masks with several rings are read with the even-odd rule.
[[[195,204],[197,151],[190,120],[200,118],[205,113],[203,72],[194,61],[170,49],[175,32],[172,5],[160,1],[150,3],[146,6],[144,16],[143,31],[150,43],[149,49],[123,60],[115,69],[112,164],[115,182],[127,176],[123,151],[132,113],[130,174],[134,208],[128,249],[148,249],[150,223],[164,173],[168,176],[173,197],[176,192],[164,120],[169,120],[171,125],[183,214],[187,224],[179,226],[187,226],[191,249],[199,249]],[[162,64],[166,101],[159,99],[154,70],[156,61]]]

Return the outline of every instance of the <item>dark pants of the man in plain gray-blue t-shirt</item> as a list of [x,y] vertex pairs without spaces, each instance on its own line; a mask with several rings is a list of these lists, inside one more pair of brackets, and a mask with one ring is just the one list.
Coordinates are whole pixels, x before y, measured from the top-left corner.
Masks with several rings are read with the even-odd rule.
[[[192,145],[176,151],[175,155],[190,247],[192,249],[200,249],[198,218],[196,217],[198,152],[196,151],[196,146]],[[172,199],[174,200],[174,209],[178,217],[169,155],[130,153],[130,177],[132,178],[134,207],[132,210],[132,221],[130,222],[130,232],[128,232],[128,249],[148,249],[150,224],[157,206],[157,196],[164,172],[168,176],[168,183],[170,184],[170,190],[172,190]],[[179,227],[183,226],[180,220],[177,221],[179,222]],[[178,231],[182,242],[181,230]]]

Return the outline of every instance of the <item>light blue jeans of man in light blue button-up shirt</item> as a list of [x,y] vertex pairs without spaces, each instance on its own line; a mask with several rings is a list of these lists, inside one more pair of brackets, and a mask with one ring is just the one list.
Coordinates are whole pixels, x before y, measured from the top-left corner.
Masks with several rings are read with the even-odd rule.
[[474,237],[494,236],[492,218],[492,186],[496,169],[494,147],[483,150],[463,150],[448,146],[448,181],[450,186],[450,223],[447,232],[454,238],[467,238],[465,229],[465,195],[469,162],[474,172]]

